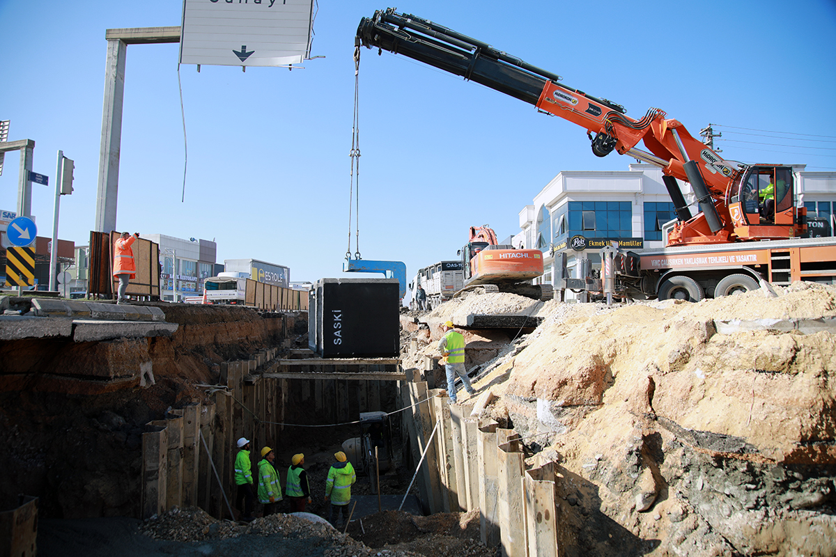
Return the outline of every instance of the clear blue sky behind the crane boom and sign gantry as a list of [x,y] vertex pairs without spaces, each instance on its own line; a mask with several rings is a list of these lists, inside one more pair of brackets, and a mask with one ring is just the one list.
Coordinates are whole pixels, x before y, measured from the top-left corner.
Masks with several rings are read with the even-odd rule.
[[[833,0],[395,6],[558,73],[635,119],[653,106],[691,134],[721,124],[727,159],[836,171]],[[319,0],[311,54],[325,58],[305,69],[181,66],[185,201],[178,45],[130,46],[117,228],[214,239],[219,262],[272,261],[294,281],[341,276],[354,33],[360,18],[388,7]],[[94,228],[105,29],[179,25],[181,10],[177,0],[0,0],[8,139],[33,139],[33,170],[50,180],[58,149],[75,161],[60,238],[86,244]],[[561,170],[632,162],[598,159],[584,129],[410,58],[364,48],[359,78],[359,251],[404,261],[408,276],[456,259],[471,225],[517,233],[519,211]],[[0,209],[17,207],[18,164],[7,154]],[[38,235],[52,234],[53,208],[52,186],[33,185]],[[351,238],[354,252],[354,224]]]

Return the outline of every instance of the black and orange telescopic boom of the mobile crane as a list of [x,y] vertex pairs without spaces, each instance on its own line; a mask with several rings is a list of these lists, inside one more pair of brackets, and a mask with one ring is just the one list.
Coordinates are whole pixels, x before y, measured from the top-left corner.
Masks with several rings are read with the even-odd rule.
[[[562,78],[556,73],[426,19],[395,13],[394,8],[363,18],[355,46],[402,54],[578,124],[587,130],[594,154],[603,157],[614,150],[663,170],[681,221],[670,243],[732,241],[735,228],[726,192],[746,167],[722,160],[679,121],[665,119],[663,110],[651,108],[642,119],[632,119],[619,104],[558,84]],[[636,147],[640,142],[646,150]],[[691,183],[700,215],[691,217],[675,179]]]

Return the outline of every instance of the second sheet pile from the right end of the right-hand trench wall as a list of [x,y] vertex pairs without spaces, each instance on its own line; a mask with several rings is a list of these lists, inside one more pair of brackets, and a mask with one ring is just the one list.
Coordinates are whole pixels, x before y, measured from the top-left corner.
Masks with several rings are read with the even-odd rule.
[[[497,443],[501,441],[502,433],[497,430]],[[502,557],[528,555],[523,496],[523,453],[519,444],[516,439],[511,439],[497,447]]]

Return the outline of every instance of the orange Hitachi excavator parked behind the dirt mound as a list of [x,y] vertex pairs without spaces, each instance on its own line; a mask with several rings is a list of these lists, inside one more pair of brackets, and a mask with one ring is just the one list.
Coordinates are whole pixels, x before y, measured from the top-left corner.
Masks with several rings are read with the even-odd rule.
[[551,300],[551,285],[534,285],[543,276],[543,252],[516,250],[500,244],[488,225],[471,226],[470,240],[459,250],[465,283],[461,291],[482,286],[487,291],[511,292],[536,300]]

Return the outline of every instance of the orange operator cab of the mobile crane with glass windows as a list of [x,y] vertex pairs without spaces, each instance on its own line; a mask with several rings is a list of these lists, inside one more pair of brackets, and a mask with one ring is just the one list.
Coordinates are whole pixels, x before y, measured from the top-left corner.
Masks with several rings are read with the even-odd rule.
[[728,192],[734,232],[741,240],[802,235],[807,210],[796,207],[793,167],[755,165],[742,170]]

